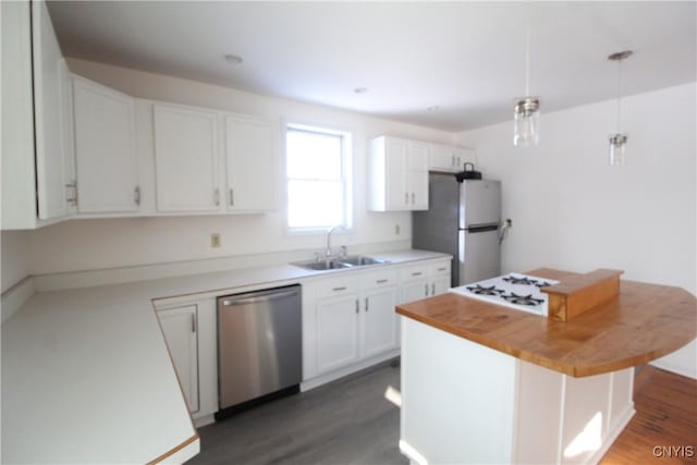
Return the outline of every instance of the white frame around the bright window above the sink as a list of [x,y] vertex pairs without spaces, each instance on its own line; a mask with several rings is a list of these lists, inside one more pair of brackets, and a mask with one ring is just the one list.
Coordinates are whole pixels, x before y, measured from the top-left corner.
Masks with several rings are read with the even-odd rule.
[[290,222],[290,195],[289,186],[290,180],[296,178],[289,178],[288,175],[288,134],[290,131],[301,131],[308,133],[316,133],[322,135],[333,135],[341,138],[341,183],[343,194],[343,220],[342,224],[345,228],[345,233],[353,232],[354,224],[354,201],[353,201],[353,133],[351,131],[341,130],[315,123],[305,123],[293,121],[283,122],[283,157],[282,157],[282,182],[283,182],[283,222],[285,232],[290,235],[309,235],[317,233],[325,233],[330,225],[313,225],[313,227],[291,227]]

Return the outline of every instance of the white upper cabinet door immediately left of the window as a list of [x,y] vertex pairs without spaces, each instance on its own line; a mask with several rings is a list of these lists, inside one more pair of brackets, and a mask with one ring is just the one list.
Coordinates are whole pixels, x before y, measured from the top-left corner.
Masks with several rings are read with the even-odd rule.
[[267,121],[225,118],[229,211],[278,208],[279,154]]

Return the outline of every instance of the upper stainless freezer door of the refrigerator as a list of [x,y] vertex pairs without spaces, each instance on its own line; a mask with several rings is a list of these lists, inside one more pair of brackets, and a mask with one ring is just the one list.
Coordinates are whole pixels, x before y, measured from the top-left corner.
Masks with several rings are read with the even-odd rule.
[[499,224],[501,221],[501,183],[465,180],[460,188],[460,229],[470,225]]

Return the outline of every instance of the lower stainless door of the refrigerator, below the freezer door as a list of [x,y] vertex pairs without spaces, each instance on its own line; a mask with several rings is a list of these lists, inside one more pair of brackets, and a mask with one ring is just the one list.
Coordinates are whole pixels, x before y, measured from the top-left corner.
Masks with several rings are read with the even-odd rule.
[[484,281],[501,273],[499,231],[489,228],[460,230],[458,285]]

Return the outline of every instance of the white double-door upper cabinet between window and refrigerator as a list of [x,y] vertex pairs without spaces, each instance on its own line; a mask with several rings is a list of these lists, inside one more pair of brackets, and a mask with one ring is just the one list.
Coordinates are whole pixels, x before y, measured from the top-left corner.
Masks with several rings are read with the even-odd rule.
[[428,145],[381,136],[370,140],[368,208],[428,209]]

